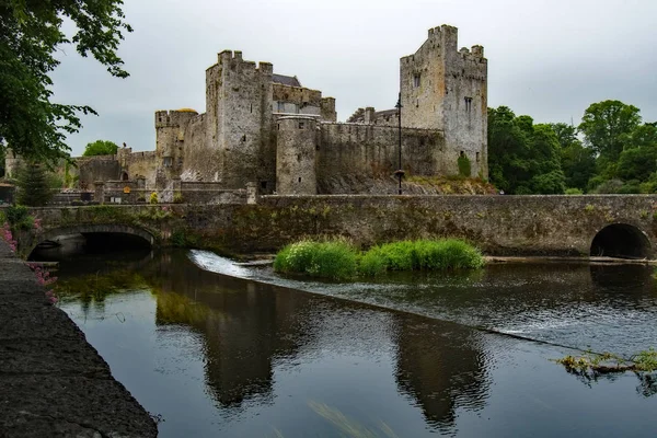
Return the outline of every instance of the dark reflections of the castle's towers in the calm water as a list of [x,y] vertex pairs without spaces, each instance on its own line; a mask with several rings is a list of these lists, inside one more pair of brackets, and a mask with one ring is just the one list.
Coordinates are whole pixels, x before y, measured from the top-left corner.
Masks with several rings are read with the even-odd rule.
[[[276,361],[315,342],[310,333],[316,321],[308,315],[325,299],[218,276],[177,254],[169,262],[151,272],[159,284],[158,325],[187,324],[203,333],[207,384],[222,406],[267,400]],[[397,387],[427,422],[450,427],[457,408],[483,405],[487,377],[473,332],[408,315],[393,319]]]

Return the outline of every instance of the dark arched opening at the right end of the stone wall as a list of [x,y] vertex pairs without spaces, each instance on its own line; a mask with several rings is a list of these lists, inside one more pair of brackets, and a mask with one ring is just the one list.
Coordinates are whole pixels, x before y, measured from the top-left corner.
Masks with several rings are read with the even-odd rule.
[[650,240],[638,227],[611,223],[598,231],[591,242],[591,256],[652,258]]

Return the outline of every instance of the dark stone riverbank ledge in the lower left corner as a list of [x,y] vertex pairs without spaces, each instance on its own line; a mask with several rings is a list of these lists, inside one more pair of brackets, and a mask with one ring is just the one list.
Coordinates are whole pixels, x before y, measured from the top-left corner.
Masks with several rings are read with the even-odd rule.
[[0,240],[2,437],[155,437],[149,413]]

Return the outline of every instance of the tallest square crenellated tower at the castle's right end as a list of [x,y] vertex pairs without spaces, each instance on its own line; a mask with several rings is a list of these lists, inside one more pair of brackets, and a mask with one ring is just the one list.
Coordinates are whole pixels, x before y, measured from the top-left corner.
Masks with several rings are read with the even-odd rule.
[[445,136],[440,173],[458,173],[461,154],[472,176],[487,177],[487,71],[484,48],[458,49],[458,30],[430,28],[419,49],[400,61],[402,124]]

